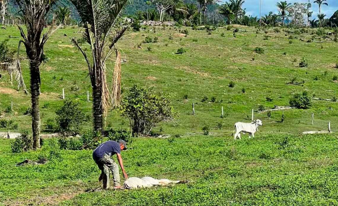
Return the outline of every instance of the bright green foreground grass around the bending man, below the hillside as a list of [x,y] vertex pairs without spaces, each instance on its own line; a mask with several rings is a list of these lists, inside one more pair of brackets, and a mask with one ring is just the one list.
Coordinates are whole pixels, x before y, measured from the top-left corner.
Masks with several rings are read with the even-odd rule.
[[[136,138],[122,152],[129,177],[187,179],[188,184],[128,191],[100,186],[90,150],[10,152],[0,140],[0,203],[4,205],[338,205],[336,135],[266,134]],[[15,166],[47,157],[45,165]],[[114,157],[115,158],[115,157]]]

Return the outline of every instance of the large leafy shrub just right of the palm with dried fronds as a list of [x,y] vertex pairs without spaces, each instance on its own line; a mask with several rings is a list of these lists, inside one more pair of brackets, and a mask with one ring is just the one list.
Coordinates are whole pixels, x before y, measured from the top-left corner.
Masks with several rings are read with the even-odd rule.
[[170,104],[171,100],[167,95],[154,94],[152,88],[144,89],[134,85],[123,98],[121,106],[123,115],[130,121],[132,133],[149,135],[159,122],[178,117]]

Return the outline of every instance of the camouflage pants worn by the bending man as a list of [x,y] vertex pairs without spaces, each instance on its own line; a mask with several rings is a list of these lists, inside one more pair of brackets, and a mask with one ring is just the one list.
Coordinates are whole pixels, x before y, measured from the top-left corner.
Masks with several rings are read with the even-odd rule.
[[101,159],[95,162],[101,170],[99,180],[102,179],[103,189],[107,189],[110,186],[109,170],[111,170],[113,173],[114,186],[120,186],[119,166],[114,162],[111,157],[109,157],[108,155],[104,155]]

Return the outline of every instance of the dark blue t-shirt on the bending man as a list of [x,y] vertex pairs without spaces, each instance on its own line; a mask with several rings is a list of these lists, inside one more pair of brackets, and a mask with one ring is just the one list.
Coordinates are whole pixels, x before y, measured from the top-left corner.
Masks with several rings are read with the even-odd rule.
[[100,146],[96,147],[96,149],[93,152],[93,159],[99,160],[104,156],[104,154],[107,154],[109,156],[115,155],[116,153],[121,154],[121,147],[120,144],[116,141],[106,141],[100,144]]

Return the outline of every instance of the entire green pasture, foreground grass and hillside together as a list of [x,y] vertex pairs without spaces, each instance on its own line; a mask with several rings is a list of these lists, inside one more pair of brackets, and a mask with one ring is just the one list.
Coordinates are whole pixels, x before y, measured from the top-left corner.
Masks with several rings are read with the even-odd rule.
[[[185,29],[186,37],[182,33]],[[334,68],[338,43],[318,36],[317,29],[298,34],[298,30],[290,33],[295,30],[286,28],[280,32],[273,28],[258,32],[250,27],[240,29],[234,38],[233,31],[225,28],[208,34],[190,27],[161,26],[154,32],[149,26],[139,32],[129,30],[118,42],[125,60],[123,91],[138,84],[168,93],[180,116],[154,129],[170,137],[134,138],[130,149],[122,152],[129,177],[187,179],[190,183],[87,193],[100,186],[91,150],[59,150],[57,139],[49,138],[38,151],[13,154],[11,140],[0,139],[0,205],[338,205],[336,133],[299,134],[326,130],[328,121],[332,131],[337,131],[338,102],[314,100],[311,109],[285,110],[284,122],[280,122],[282,111],[271,112],[271,117],[256,112],[260,105],[288,106],[290,97],[303,91],[319,98],[337,97],[338,83],[333,77],[338,76]],[[49,61],[41,66],[42,133],[47,133],[47,119],[54,118],[62,104],[63,88],[66,98],[79,102],[90,119],[92,102],[86,101],[87,91],[91,92],[88,71],[70,42],[70,38],[80,37],[78,31],[77,27],[58,29],[45,46]],[[0,30],[0,41],[8,36],[11,48],[16,49],[18,29]],[[140,45],[146,36],[158,37],[158,42]],[[307,42],[312,38],[314,42]],[[264,54],[255,53],[256,47],[263,48]],[[186,52],[176,54],[179,48]],[[307,68],[298,67],[302,58]],[[112,56],[108,79],[112,78],[114,64]],[[29,87],[27,62],[23,62],[23,72]],[[288,84],[294,77],[297,82],[304,81],[304,86]],[[230,82],[235,86],[229,87]],[[204,96],[208,100],[202,102]],[[14,111],[6,112],[11,101]],[[18,123],[17,131],[30,129],[31,118],[24,115],[29,105],[30,97],[17,91],[15,84],[11,86],[8,75],[4,75],[0,79],[0,118]],[[224,118],[220,117],[222,106]],[[234,141],[234,123],[249,122],[252,108],[263,127],[255,138],[243,135],[242,140]],[[86,121],[83,129],[91,129],[91,125]],[[121,112],[108,114],[107,128],[128,125]],[[202,135],[204,125],[211,127],[209,136]],[[41,157],[49,161],[44,165],[15,166],[24,159]]]

